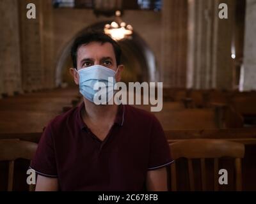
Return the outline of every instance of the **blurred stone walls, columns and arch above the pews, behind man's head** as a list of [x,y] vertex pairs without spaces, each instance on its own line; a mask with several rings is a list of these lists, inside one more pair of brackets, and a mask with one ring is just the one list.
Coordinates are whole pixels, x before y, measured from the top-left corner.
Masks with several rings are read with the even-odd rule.
[[[1,0],[0,96],[74,85],[68,74],[72,41],[90,29],[104,31],[111,22],[132,28],[119,40],[124,82],[251,91],[256,87],[253,2]],[[36,5],[36,19],[26,17],[28,3]],[[219,18],[220,3],[227,4],[228,19]]]

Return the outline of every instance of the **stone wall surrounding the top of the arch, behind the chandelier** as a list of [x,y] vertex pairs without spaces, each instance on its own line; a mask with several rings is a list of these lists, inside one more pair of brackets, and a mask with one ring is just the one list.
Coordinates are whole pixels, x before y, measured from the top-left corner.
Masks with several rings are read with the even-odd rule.
[[[60,8],[53,11],[54,64],[62,60],[61,54],[68,43],[80,32],[99,22],[115,20],[114,17],[96,17],[93,10]],[[131,24],[156,58],[156,68],[161,69],[161,13],[154,11],[125,10],[122,20]],[[63,24],[65,22],[65,24]],[[157,76],[157,73],[156,73]],[[154,81],[155,79],[153,79]],[[159,80],[157,78],[156,80]]]

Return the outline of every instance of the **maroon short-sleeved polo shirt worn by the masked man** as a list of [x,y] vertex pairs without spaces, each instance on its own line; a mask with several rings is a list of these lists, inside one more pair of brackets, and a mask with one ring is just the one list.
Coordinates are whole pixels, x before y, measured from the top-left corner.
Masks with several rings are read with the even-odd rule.
[[31,162],[39,175],[58,177],[61,191],[143,191],[147,171],[172,163],[151,113],[120,105],[102,142],[84,124],[82,108],[84,103],[48,124]]

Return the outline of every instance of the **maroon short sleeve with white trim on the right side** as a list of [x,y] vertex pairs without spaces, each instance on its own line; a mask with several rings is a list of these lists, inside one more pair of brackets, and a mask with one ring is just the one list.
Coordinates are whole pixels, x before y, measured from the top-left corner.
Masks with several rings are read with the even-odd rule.
[[156,170],[173,162],[170,149],[160,122],[154,117],[150,133],[148,170]]

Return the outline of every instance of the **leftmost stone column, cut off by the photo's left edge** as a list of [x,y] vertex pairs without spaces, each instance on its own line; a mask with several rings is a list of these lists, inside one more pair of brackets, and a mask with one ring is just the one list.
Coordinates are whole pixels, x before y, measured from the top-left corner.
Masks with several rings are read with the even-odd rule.
[[22,92],[18,0],[0,1],[0,98]]

